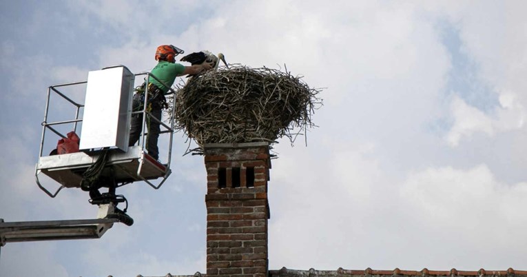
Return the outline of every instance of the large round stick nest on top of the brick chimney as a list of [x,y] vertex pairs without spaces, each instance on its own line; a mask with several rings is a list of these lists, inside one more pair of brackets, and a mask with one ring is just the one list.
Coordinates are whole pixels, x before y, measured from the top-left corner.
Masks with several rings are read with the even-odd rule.
[[[291,143],[322,104],[320,90],[302,77],[269,68],[231,65],[209,70],[176,86],[176,130],[184,130],[200,147],[205,143]],[[174,107],[174,105],[171,105]]]

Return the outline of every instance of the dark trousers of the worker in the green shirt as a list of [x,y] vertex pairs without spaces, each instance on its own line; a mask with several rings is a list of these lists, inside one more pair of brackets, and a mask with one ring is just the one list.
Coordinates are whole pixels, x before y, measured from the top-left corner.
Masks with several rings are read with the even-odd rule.
[[[134,105],[136,105],[136,96],[134,96]],[[152,110],[150,110],[150,113],[159,121],[161,121],[161,110],[162,107],[159,103],[152,103]],[[159,127],[160,124],[154,119],[150,119],[149,116],[147,116],[146,125],[146,149],[148,151],[148,154],[152,156],[152,158],[155,158],[157,160],[159,158],[157,141],[159,138],[159,133],[161,132],[161,128]],[[139,140],[139,136],[141,136],[141,130],[143,130],[143,114],[133,114],[132,126],[130,127],[130,146],[137,143],[137,141]]]

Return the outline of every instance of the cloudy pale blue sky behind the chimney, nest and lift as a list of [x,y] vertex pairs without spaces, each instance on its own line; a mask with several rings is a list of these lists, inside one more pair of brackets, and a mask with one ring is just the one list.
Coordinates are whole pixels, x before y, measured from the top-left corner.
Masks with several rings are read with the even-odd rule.
[[[523,1],[0,1],[0,218],[94,218],[80,189],[34,183],[45,92],[90,70],[154,67],[154,50],[286,64],[326,88],[320,127],[275,145],[270,269],[526,269]],[[12,243],[0,276],[205,272],[205,169],[121,188],[132,227],[100,240]],[[45,152],[47,152],[46,150]],[[50,184],[52,185],[52,184]],[[419,251],[426,249],[426,253]]]

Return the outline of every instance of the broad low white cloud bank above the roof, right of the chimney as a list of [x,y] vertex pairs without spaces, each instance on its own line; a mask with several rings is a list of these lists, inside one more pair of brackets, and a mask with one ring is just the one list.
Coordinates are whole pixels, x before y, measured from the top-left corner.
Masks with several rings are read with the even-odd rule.
[[508,266],[521,267],[526,253],[514,245],[527,245],[527,183],[500,183],[486,165],[397,181],[356,150],[322,161],[292,151],[273,163],[272,268],[500,267],[507,247]]

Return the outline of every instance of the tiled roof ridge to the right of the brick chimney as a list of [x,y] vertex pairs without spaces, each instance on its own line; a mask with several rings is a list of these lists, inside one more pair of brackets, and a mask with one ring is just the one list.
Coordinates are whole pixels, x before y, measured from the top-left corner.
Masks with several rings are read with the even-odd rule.
[[269,276],[527,276],[527,271],[525,270],[515,270],[512,267],[509,267],[507,270],[486,270],[479,269],[478,271],[462,271],[455,268],[450,269],[449,271],[441,270],[428,270],[426,268],[421,271],[413,270],[401,270],[395,268],[393,270],[373,270],[371,268],[366,268],[364,270],[350,270],[350,269],[339,269],[335,270],[316,270],[309,269],[305,270],[295,270],[287,269],[282,267],[280,270],[271,270],[269,271]]

